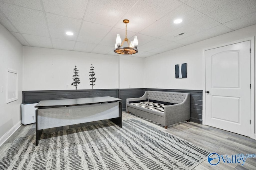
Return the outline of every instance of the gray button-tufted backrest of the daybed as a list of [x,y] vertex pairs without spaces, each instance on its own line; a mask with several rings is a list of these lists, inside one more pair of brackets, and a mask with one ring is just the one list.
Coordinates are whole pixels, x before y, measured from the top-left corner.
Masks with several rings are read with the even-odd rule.
[[189,93],[147,91],[149,100],[180,104]]

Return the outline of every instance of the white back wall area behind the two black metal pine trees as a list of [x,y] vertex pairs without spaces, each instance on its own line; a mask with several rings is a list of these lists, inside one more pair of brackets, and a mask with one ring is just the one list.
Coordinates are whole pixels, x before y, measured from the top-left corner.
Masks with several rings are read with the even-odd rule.
[[23,90],[75,89],[71,86],[75,65],[81,82],[77,89],[92,89],[88,80],[90,64],[96,76],[94,89],[118,88],[118,56],[24,47]]

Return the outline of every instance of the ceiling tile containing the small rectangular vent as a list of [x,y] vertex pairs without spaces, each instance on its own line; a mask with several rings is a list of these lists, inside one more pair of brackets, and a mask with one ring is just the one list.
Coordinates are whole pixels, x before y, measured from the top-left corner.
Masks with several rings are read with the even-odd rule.
[[[161,39],[166,39],[169,41],[177,41],[179,39],[183,39],[185,37],[189,37],[191,35],[194,35],[196,33],[205,31],[211,27],[215,27],[217,25],[220,25],[220,23],[218,23],[215,20],[212,20],[211,18],[207,17],[207,16],[203,16],[201,18],[199,18],[198,20],[189,23],[179,29],[176,29],[175,31],[172,31],[162,37],[160,37]],[[178,37],[174,37],[174,35],[178,35],[179,33],[185,33],[184,35],[178,36]]]

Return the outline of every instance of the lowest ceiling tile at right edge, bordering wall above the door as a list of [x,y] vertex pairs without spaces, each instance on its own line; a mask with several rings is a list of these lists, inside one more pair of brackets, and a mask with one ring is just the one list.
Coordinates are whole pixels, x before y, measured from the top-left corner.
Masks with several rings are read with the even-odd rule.
[[256,12],[249,14],[247,16],[243,16],[241,18],[223,23],[223,25],[226,25],[227,27],[230,27],[231,29],[234,29],[234,30],[248,27],[254,24],[256,24]]

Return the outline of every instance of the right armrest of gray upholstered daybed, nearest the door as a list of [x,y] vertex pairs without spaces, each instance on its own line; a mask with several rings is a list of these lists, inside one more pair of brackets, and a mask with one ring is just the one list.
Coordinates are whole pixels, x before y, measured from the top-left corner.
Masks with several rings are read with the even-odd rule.
[[164,126],[190,119],[190,94],[180,104],[164,107]]

